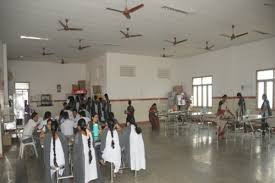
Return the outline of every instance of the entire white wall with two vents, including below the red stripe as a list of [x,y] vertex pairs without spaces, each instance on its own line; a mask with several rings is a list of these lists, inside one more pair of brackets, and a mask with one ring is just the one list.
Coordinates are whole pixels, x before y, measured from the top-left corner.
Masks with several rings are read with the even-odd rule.
[[[136,77],[120,77],[120,66],[135,66]],[[160,57],[107,53],[107,92],[112,100],[112,111],[120,122],[125,122],[127,99],[132,99],[136,121],[148,121],[148,110],[157,103],[159,110],[167,108],[166,100],[173,84],[174,60]],[[170,69],[170,79],[159,79],[158,69]]]

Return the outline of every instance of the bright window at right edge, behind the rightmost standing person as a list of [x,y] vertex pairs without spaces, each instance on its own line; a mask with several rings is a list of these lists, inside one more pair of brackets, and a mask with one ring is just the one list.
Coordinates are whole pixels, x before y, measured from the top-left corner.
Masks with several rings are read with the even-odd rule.
[[274,104],[275,69],[257,71],[257,107],[261,108],[262,95],[265,93],[270,107]]

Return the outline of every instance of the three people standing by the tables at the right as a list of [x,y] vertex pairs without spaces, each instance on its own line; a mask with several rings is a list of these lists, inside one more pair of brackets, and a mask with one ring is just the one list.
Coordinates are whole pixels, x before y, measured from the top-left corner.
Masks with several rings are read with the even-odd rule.
[[[227,105],[227,95],[222,96],[222,100],[219,102],[218,110],[217,110],[217,125],[218,125],[218,137],[223,139],[225,133],[225,126],[227,122],[232,118],[237,118],[238,121],[242,120],[242,118],[246,115],[246,103],[245,99],[241,93],[237,93],[237,97],[239,99],[238,106],[236,110],[236,115],[234,115],[228,108]],[[269,105],[269,101],[267,99],[267,95],[262,95],[263,103],[261,106],[261,116],[262,116],[262,135],[264,136],[266,131],[268,130],[267,117],[272,116],[272,111]],[[244,124],[244,131],[246,131],[247,126]]]

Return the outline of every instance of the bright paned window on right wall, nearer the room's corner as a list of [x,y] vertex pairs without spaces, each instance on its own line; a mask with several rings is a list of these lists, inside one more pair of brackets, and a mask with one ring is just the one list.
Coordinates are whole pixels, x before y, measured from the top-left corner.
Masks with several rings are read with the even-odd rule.
[[212,107],[212,76],[193,78],[193,105]]

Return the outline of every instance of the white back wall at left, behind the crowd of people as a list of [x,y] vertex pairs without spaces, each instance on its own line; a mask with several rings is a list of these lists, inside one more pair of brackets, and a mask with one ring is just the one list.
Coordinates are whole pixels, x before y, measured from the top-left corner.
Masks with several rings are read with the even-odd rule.
[[[66,94],[71,93],[72,84],[86,79],[85,64],[9,61],[8,68],[13,73],[15,82],[30,82],[32,101],[40,101],[41,94],[52,95],[52,99],[56,101],[54,106],[37,108],[41,115],[45,110],[57,114],[62,107],[62,100],[66,99]],[[57,84],[61,84],[61,93],[57,93]]]

